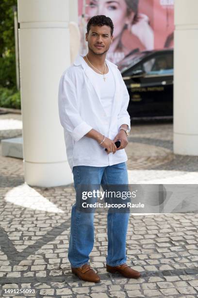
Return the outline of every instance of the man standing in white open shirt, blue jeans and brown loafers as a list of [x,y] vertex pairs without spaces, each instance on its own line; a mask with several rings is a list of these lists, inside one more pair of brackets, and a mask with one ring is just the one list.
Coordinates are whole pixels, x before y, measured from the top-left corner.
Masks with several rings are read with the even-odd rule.
[[[59,84],[59,116],[76,192],[79,185],[129,183],[124,149],[131,129],[127,112],[129,93],[117,66],[106,59],[113,30],[110,18],[103,15],[91,18],[86,33],[88,53],[76,58]],[[115,146],[117,140],[119,148]],[[98,274],[89,264],[94,245],[94,213],[79,211],[78,201],[76,196],[71,211],[68,259],[72,272],[80,279],[99,282]],[[106,270],[139,278],[140,273],[126,264],[129,215],[108,211]]]

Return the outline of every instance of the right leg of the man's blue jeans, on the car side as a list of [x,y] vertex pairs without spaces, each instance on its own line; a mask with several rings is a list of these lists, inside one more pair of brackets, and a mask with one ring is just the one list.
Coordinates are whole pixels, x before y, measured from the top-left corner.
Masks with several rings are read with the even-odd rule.
[[[102,176],[102,183],[128,185],[126,163],[106,167]],[[130,213],[109,211],[107,215],[108,255],[106,263],[110,266],[117,266],[127,261],[126,237]]]

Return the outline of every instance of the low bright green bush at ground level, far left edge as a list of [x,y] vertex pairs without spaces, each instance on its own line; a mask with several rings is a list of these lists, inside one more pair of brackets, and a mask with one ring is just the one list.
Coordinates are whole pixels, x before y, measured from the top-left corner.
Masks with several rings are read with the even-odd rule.
[[16,89],[0,87],[0,107],[20,109],[20,92]]

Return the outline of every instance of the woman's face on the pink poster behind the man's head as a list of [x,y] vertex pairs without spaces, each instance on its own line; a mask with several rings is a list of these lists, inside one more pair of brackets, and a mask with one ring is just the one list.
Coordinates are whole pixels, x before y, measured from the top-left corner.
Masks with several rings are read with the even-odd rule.
[[[134,13],[127,15],[127,4],[125,0],[89,0],[86,9],[88,20],[96,15],[105,15],[112,19],[114,24],[114,38],[117,37],[125,24],[131,24]],[[88,21],[87,20],[87,21]]]

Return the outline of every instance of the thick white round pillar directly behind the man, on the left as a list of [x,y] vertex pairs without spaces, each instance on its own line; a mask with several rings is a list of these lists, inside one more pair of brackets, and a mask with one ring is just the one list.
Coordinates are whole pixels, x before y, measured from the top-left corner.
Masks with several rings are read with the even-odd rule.
[[23,162],[31,186],[73,182],[59,120],[58,86],[71,63],[69,21],[78,19],[75,2],[18,0]]

